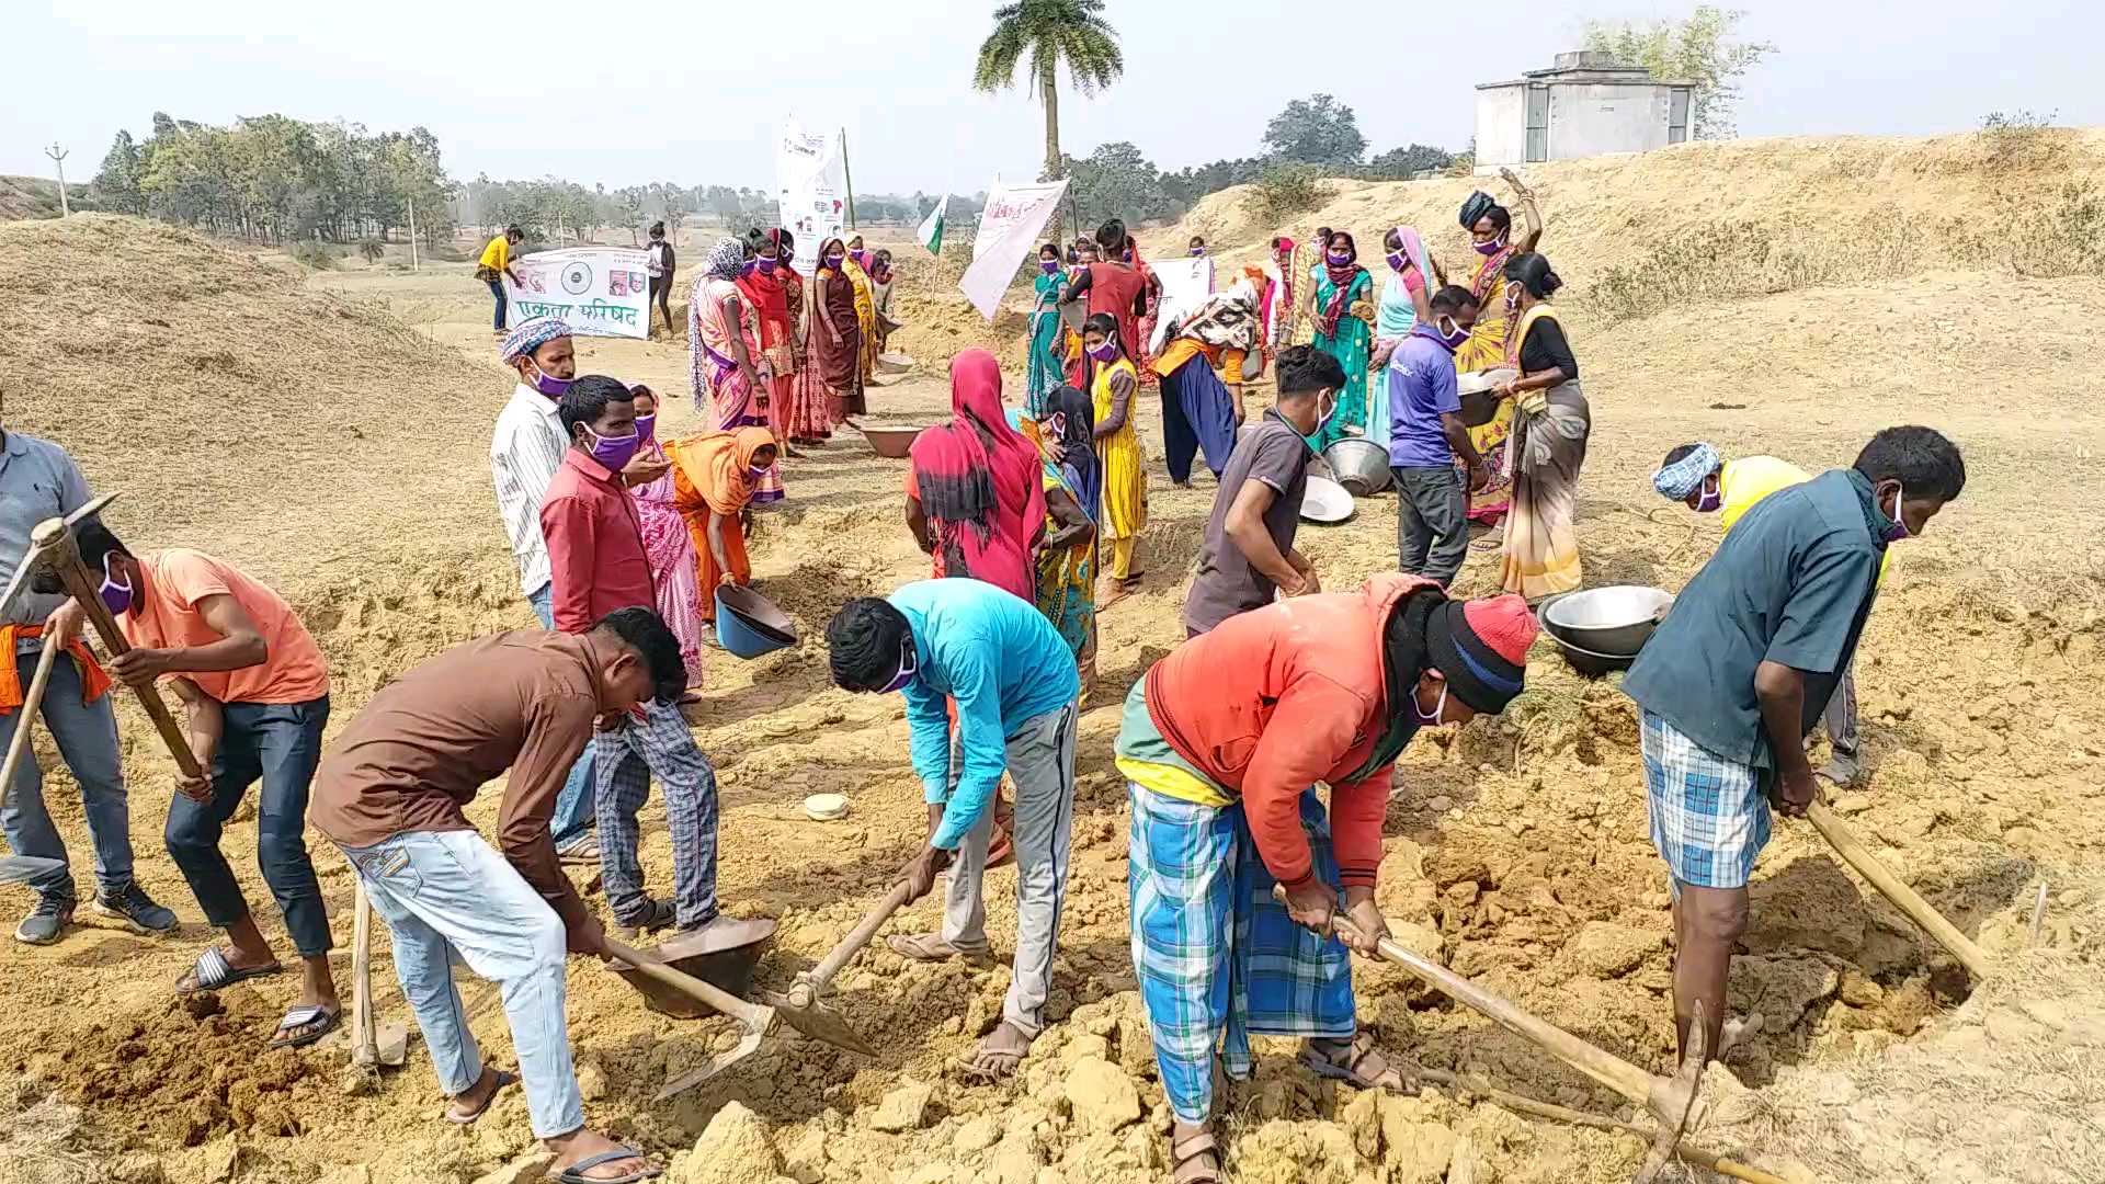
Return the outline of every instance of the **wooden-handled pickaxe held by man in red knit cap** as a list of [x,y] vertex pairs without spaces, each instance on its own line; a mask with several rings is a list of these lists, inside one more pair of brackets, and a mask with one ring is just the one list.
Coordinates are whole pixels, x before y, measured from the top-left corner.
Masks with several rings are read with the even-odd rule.
[[[1274,887],[1271,893],[1282,904],[1286,902],[1286,889]],[[1351,921],[1343,914],[1332,919],[1332,929],[1341,938],[1360,935]],[[1655,1077],[1615,1053],[1581,1041],[1547,1020],[1528,1015],[1507,999],[1492,994],[1440,963],[1404,948],[1404,944],[1394,938],[1381,940],[1381,956],[1404,967],[1410,975],[1440,994],[1446,994],[1474,1011],[1482,1011],[1507,1032],[1526,1037],[1560,1062],[1621,1093],[1629,1102],[1648,1108],[1652,1119],[1659,1121],[1659,1131],[1652,1136],[1652,1150],[1644,1157],[1644,1167],[1638,1169],[1631,1184],[1652,1184],[1667,1161],[1673,1159],[1676,1148],[1682,1142],[1682,1131],[1686,1131],[1701,1117],[1703,1104],[1697,1098],[1697,1085],[1703,1077],[1703,1064],[1709,1060],[1709,1041],[1703,1026],[1701,1003],[1697,1005],[1695,1018],[1688,1022],[1688,1049],[1682,1055],[1680,1070],[1673,1077]]]

